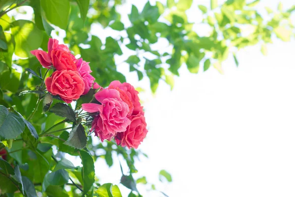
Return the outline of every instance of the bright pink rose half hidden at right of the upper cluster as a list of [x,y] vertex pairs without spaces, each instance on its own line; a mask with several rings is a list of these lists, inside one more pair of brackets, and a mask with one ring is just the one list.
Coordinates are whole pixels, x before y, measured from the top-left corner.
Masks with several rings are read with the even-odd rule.
[[86,95],[89,92],[90,88],[92,88],[95,78],[90,74],[90,72],[92,71],[90,69],[89,62],[85,62],[82,58],[80,58],[79,60],[77,60],[76,66],[77,71],[79,72],[85,83],[85,90],[83,95]]

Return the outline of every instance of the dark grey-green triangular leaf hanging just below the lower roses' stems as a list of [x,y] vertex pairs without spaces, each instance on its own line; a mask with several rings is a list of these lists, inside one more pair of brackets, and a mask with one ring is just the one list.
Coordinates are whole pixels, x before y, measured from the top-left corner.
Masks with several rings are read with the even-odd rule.
[[77,125],[74,129],[70,132],[69,138],[64,142],[65,145],[83,149],[87,145],[87,137],[82,124]]

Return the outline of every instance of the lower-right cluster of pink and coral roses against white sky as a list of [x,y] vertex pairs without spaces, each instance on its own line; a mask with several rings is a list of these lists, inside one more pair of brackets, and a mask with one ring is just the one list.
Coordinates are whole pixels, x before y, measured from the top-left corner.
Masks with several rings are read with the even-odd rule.
[[100,140],[115,137],[118,145],[137,148],[147,135],[147,123],[138,92],[129,83],[113,81],[108,88],[97,92],[101,103],[85,103],[82,109],[97,112],[91,130]]

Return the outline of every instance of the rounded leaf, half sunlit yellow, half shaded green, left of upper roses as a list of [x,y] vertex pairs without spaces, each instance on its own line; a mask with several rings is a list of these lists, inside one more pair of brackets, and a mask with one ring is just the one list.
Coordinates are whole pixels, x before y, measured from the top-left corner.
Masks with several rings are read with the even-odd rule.
[[15,40],[14,53],[21,58],[32,56],[30,51],[38,49],[42,43],[43,33],[31,21],[14,21],[11,24],[11,33]]

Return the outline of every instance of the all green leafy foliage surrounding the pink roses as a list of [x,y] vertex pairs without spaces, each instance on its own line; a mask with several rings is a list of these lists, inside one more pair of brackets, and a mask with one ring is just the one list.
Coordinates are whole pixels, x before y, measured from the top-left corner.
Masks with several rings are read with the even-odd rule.
[[[0,159],[1,194],[35,197],[37,191],[50,197],[119,197],[118,186],[103,184],[94,176],[94,162],[105,159],[112,166],[115,155],[122,157],[129,168],[130,173],[122,173],[121,179],[122,185],[131,190],[129,196],[140,196],[136,184],[147,184],[146,177],[134,180],[132,176],[137,173],[135,161],[143,155],[140,150],[127,150],[114,141],[92,144],[92,137],[85,131],[88,125],[80,124],[84,117],[78,116],[75,106],[63,106],[59,98],[51,98],[43,91],[46,69],[30,51],[37,48],[47,51],[49,38],[58,37],[61,30],[65,30],[62,38],[70,50],[90,62],[99,85],[125,81],[114,57],[127,53],[132,55],[123,64],[128,64],[139,80],[147,77],[153,92],[161,79],[173,88],[174,76],[179,75],[182,65],[191,73],[210,67],[222,73],[222,62],[228,57],[233,57],[238,66],[238,50],[260,45],[266,55],[266,44],[272,42],[274,35],[283,41],[294,36],[290,16],[295,6],[283,9],[280,4],[277,10],[266,8],[268,16],[263,18],[256,8],[259,0],[227,0],[224,4],[211,0],[210,7],[198,5],[203,13],[202,25],[209,28],[202,35],[185,12],[193,0],[167,0],[165,5],[147,2],[143,10],[133,5],[129,25],[121,21],[116,10],[122,3],[121,0],[0,1],[0,155],[5,156]],[[33,9],[31,20],[15,20],[10,10],[21,14],[28,9],[25,5]],[[90,31],[93,25],[112,29],[118,36],[101,40]],[[169,44],[159,49],[155,47],[159,43]],[[76,106],[90,102],[93,94],[81,97]],[[96,150],[105,154],[99,155]],[[62,153],[80,157],[82,167],[72,164]],[[172,181],[165,170],[161,170],[159,177]],[[66,187],[70,192],[66,192]],[[148,187],[155,190],[152,184]]]

